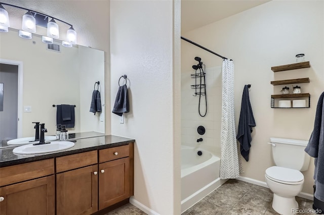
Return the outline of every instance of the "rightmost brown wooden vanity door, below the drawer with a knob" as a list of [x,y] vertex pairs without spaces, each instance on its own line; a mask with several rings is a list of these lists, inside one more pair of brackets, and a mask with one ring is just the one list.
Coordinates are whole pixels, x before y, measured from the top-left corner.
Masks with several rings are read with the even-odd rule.
[[130,158],[99,164],[99,209],[130,197]]

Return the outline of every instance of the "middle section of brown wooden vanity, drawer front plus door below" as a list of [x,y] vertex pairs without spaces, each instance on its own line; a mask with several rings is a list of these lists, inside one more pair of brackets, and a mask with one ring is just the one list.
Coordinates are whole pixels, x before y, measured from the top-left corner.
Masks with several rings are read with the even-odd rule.
[[56,158],[57,214],[87,215],[98,210],[97,157],[94,150]]

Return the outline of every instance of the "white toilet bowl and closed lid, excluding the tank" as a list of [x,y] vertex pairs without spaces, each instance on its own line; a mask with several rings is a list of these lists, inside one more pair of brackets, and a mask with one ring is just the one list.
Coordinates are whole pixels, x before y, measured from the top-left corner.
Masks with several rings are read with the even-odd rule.
[[284,167],[269,167],[265,180],[273,192],[272,208],[280,214],[296,214],[298,203],[295,196],[303,188],[304,176],[298,170]]

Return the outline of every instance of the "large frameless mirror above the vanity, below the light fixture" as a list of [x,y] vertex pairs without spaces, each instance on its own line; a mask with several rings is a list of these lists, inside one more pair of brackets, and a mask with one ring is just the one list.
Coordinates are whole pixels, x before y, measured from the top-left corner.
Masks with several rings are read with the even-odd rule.
[[[23,39],[18,36],[18,30],[12,28],[8,33],[0,33],[0,46],[1,63],[9,62],[19,67],[18,80],[14,80],[18,81],[18,113],[6,125],[14,128],[18,121],[18,138],[34,135],[32,122],[45,123],[47,135],[55,135],[57,108],[53,104],[75,105],[75,125],[69,133],[105,132],[104,51],[81,45],[67,48],[60,40],[54,40],[54,45],[48,46],[42,42],[42,36],[33,34],[32,39]],[[4,82],[2,77],[0,75],[1,83]],[[89,110],[94,85],[98,81],[102,112],[94,115]],[[5,96],[10,94],[6,87],[4,93]],[[10,96],[16,99],[16,93]],[[4,121],[1,117],[0,121]],[[15,123],[11,125],[10,122]],[[0,129],[4,130],[1,123]],[[15,128],[13,130],[17,133]],[[0,138],[10,139],[10,135],[7,136],[2,134]]]

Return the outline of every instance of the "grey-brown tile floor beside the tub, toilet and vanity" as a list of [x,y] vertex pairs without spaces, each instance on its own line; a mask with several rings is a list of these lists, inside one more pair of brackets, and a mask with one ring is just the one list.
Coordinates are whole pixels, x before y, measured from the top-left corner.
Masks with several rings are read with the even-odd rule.
[[[312,209],[313,202],[296,197],[299,209]],[[247,182],[230,179],[211,194],[200,200],[182,215],[272,215],[279,214],[271,207],[272,192]],[[146,214],[132,204],[126,204],[106,215]],[[299,213],[316,214],[316,213]],[[172,214],[170,214],[172,215]]]

